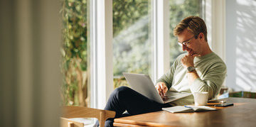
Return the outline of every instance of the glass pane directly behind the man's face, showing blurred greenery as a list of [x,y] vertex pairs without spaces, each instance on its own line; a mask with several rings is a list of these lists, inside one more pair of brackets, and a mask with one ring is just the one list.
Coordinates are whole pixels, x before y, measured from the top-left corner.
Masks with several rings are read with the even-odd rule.
[[170,65],[184,53],[173,33],[175,26],[187,16],[201,16],[201,6],[202,0],[170,0]]

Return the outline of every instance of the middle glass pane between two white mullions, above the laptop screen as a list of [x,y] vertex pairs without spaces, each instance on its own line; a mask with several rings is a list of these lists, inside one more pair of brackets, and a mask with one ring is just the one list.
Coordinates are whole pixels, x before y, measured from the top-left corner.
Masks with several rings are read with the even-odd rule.
[[127,85],[122,72],[151,75],[150,1],[113,0],[114,88]]

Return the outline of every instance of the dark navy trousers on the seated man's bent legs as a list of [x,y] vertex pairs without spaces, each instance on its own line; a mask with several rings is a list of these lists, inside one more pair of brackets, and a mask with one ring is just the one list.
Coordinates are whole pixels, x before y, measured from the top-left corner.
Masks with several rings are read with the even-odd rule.
[[[156,101],[148,99],[146,96],[135,92],[129,87],[119,87],[114,89],[107,101],[105,110],[115,111],[114,118],[123,116],[145,114],[153,111],[161,111],[163,107],[169,107],[170,104],[159,104]],[[124,114],[127,111],[128,114]],[[105,126],[113,126],[114,118],[109,118]]]

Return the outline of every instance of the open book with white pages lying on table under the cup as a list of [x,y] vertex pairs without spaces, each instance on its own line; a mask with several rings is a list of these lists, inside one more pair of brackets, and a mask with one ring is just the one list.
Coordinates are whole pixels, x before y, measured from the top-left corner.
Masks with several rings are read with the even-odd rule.
[[169,111],[171,113],[178,112],[193,112],[193,111],[212,111],[217,110],[210,108],[209,106],[172,106],[169,108],[163,108],[164,111]]

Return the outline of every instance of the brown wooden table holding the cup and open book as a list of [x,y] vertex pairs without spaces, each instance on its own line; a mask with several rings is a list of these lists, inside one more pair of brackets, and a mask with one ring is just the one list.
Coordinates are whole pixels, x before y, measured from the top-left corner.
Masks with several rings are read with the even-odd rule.
[[114,126],[256,126],[256,99],[231,97],[221,100],[233,103],[234,106],[219,108],[218,111],[176,114],[157,111],[115,118]]

